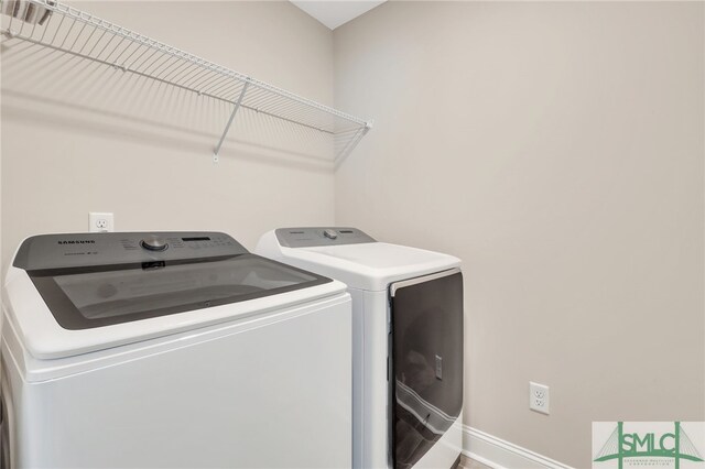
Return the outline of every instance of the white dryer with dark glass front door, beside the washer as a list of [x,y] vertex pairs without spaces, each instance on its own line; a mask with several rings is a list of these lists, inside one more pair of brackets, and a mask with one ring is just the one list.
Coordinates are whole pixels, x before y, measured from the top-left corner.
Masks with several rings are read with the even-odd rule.
[[352,296],[352,466],[451,468],[463,413],[460,260],[355,228],[282,228],[261,255],[345,282]]

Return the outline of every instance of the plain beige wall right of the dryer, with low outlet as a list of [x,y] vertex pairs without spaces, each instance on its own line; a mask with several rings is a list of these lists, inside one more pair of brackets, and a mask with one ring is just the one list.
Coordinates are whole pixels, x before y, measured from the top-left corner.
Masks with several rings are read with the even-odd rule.
[[392,1],[334,32],[336,106],[376,119],[336,221],[463,259],[466,424],[589,467],[592,421],[705,419],[703,9]]

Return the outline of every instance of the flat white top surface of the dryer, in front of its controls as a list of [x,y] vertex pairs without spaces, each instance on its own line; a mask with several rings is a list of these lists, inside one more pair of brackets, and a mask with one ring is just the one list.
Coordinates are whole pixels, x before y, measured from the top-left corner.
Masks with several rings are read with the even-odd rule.
[[395,281],[459,268],[453,255],[386,242],[281,248],[283,260],[360,290],[381,291]]

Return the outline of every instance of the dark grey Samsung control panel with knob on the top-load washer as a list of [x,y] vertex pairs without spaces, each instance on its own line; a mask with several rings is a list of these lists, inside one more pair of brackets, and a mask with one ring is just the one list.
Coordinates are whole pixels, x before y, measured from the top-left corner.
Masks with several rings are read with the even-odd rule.
[[13,265],[30,271],[246,253],[230,236],[212,231],[40,234],[24,240]]

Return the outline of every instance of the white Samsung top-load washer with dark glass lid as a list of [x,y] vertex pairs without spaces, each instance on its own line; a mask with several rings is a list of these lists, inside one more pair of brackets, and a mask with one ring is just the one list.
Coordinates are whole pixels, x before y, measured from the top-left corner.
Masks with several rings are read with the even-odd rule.
[[29,238],[4,288],[6,467],[350,467],[343,283],[120,232]]

